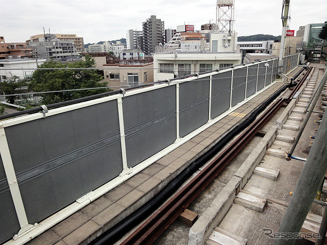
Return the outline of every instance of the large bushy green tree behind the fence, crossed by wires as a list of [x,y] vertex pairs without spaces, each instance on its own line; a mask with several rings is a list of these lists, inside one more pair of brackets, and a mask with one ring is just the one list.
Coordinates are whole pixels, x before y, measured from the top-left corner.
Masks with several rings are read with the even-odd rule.
[[[95,68],[94,58],[85,56],[85,61],[62,64],[60,62],[49,61],[41,64],[39,68]],[[80,88],[105,87],[103,76],[97,70],[83,69],[46,69],[36,70],[29,88],[35,92],[70,90]],[[42,94],[42,103],[45,105],[63,101],[78,99],[81,97],[103,93],[109,89],[90,89],[69,92],[54,92]]]

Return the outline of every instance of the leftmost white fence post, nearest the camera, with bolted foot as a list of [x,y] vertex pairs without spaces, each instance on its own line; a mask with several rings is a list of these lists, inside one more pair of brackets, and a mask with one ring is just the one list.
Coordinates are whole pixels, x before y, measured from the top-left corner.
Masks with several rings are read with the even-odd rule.
[[15,210],[17,213],[19,225],[20,225],[20,231],[15,237],[18,237],[18,235],[28,231],[29,229],[33,228],[33,225],[29,225],[29,222],[27,220],[26,211],[24,207],[24,203],[21,199],[21,194],[18,186],[18,182],[16,179],[16,173],[14,166],[12,164],[12,159],[9,151],[9,146],[6,138],[5,128],[2,128],[0,126],[0,154],[1,158],[4,164],[5,173],[7,177],[7,181],[9,184],[9,189],[11,193],[11,197],[15,206]]

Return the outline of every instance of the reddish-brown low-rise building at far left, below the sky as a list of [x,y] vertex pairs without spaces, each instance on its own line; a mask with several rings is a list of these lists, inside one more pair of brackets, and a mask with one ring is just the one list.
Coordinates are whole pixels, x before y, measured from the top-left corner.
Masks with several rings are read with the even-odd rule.
[[32,58],[33,48],[28,48],[25,42],[5,42],[0,37],[0,59],[8,58]]

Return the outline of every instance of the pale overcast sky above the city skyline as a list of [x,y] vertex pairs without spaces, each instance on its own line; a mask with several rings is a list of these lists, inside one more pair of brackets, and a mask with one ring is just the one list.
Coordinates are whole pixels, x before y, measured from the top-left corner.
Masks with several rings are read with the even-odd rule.
[[[77,34],[84,43],[126,38],[128,29],[142,30],[150,15],[165,21],[165,29],[180,24],[213,22],[216,0],[0,0],[0,35],[6,42],[25,42],[30,36],[46,32]],[[238,36],[281,35],[283,0],[235,0]],[[314,3],[314,4],[313,4]],[[291,30],[308,23],[327,21],[326,0],[291,1]]]

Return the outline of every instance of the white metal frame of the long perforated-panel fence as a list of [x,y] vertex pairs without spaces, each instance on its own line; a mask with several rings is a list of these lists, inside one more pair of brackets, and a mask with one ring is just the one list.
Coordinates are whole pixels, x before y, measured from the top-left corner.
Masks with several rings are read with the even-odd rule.
[[[260,91],[257,91],[259,64],[260,63],[268,63],[269,61],[272,61],[271,82],[267,86],[266,86],[266,83],[265,83],[264,88],[262,90],[260,90]],[[198,77],[190,77],[190,78],[185,78],[185,79],[180,79],[180,80],[174,80],[174,81],[172,81],[170,83],[166,83],[166,84],[157,84],[157,85],[153,85],[151,87],[145,87],[145,88],[141,88],[141,89],[135,89],[135,90],[127,91],[125,94],[115,94],[115,95],[102,97],[100,99],[96,99],[96,100],[92,100],[92,101],[82,102],[82,103],[78,103],[78,104],[74,104],[74,105],[69,105],[69,106],[64,106],[64,107],[61,107],[61,108],[49,110],[49,112],[45,113],[46,117],[53,116],[53,115],[56,115],[56,114],[60,114],[60,113],[67,112],[67,111],[76,110],[76,109],[91,106],[91,105],[96,105],[96,104],[103,103],[103,102],[108,102],[108,101],[115,100],[117,102],[117,105],[118,105],[118,113],[119,113],[119,125],[120,125],[121,149],[122,149],[122,159],[123,159],[123,171],[118,177],[114,178],[113,180],[107,182],[106,184],[102,185],[101,187],[99,187],[99,188],[97,188],[97,189],[95,189],[95,190],[93,190],[93,191],[91,191],[89,193],[85,193],[85,195],[83,197],[81,197],[80,199],[76,200],[76,202],[74,202],[73,204],[61,209],[59,212],[53,214],[52,216],[42,220],[42,222],[40,222],[39,224],[31,225],[31,224],[28,223],[27,215],[26,215],[26,212],[25,212],[25,209],[24,209],[24,203],[22,202],[22,199],[21,199],[19,186],[18,186],[17,179],[16,179],[15,170],[14,170],[12,160],[11,160],[11,156],[10,156],[10,151],[9,151],[9,147],[8,147],[8,143],[7,143],[7,139],[6,139],[6,134],[5,134],[5,128],[13,126],[13,125],[21,124],[21,123],[24,123],[24,122],[27,122],[27,121],[41,119],[41,118],[43,118],[43,113],[35,113],[35,114],[26,115],[26,116],[22,116],[22,117],[18,117],[18,118],[13,118],[13,119],[5,120],[5,121],[0,121],[0,145],[2,145],[1,148],[0,148],[0,153],[1,153],[1,157],[2,157],[2,160],[3,160],[4,166],[5,166],[5,173],[6,173],[6,176],[7,176],[7,180],[8,180],[10,191],[11,191],[11,194],[12,194],[14,206],[15,206],[16,213],[17,213],[18,220],[19,220],[19,224],[20,224],[20,227],[21,227],[21,230],[19,231],[19,233],[17,235],[15,235],[12,240],[8,241],[5,244],[7,244],[7,245],[9,245],[9,244],[17,245],[17,244],[24,244],[24,243],[28,242],[32,238],[34,238],[37,235],[41,234],[43,231],[45,231],[45,230],[51,228],[52,226],[54,226],[55,224],[59,223],[64,218],[68,217],[69,215],[72,215],[73,213],[75,213],[79,209],[83,208],[84,206],[86,206],[90,202],[92,202],[92,201],[96,200],[97,198],[101,197],[101,195],[105,194],[110,189],[114,188],[115,186],[118,186],[122,182],[124,182],[127,179],[131,178],[135,174],[139,173],[139,171],[141,171],[144,168],[148,167],[149,165],[151,165],[153,162],[157,161],[161,157],[167,155],[169,152],[173,151],[178,146],[180,146],[181,144],[183,144],[186,141],[190,140],[191,138],[193,138],[194,136],[196,136],[197,134],[199,134],[203,130],[205,130],[208,127],[214,125],[221,118],[228,115],[232,111],[236,110],[237,108],[239,108],[240,106],[242,106],[243,104],[245,104],[246,102],[251,100],[253,97],[255,97],[256,95],[263,92],[265,89],[272,86],[275,83],[272,80],[273,80],[273,77],[274,77],[273,76],[274,72],[276,72],[277,62],[278,62],[278,58],[264,60],[264,61],[258,61],[258,62],[252,62],[252,63],[249,63],[249,64],[243,64],[243,65],[239,65],[239,66],[236,66],[236,67],[232,67],[232,68],[228,68],[228,69],[224,69],[224,70],[220,70],[220,71],[213,71],[213,72],[210,72],[210,73],[207,73],[207,74],[204,74],[204,75],[199,75]],[[247,81],[248,81],[248,79],[247,79],[248,78],[248,69],[249,69],[248,67],[252,66],[252,65],[258,65],[258,68],[257,68],[258,72],[257,72],[257,76],[256,76],[256,90],[255,90],[255,93],[253,95],[251,95],[251,96],[249,96],[247,98],[246,97],[246,90],[247,90]],[[245,79],[245,99],[244,99],[244,101],[238,103],[236,106],[231,107],[232,80],[233,80],[233,73],[234,73],[233,70],[239,69],[239,68],[244,68],[244,67],[247,68],[246,69],[246,79]],[[230,88],[230,108],[229,108],[229,110],[227,110],[226,112],[224,112],[221,115],[217,116],[216,118],[211,118],[212,76],[220,74],[222,72],[228,72],[228,71],[232,71],[231,72],[231,74],[232,74],[231,75],[231,88]],[[267,67],[266,67],[265,79],[266,79],[266,76],[267,76]],[[196,80],[196,79],[205,78],[205,77],[210,78],[210,81],[209,81],[209,116],[208,116],[208,121],[207,121],[207,123],[205,125],[201,126],[200,128],[194,130],[193,132],[191,132],[188,135],[181,138],[179,136],[179,84],[184,83],[184,82],[188,82],[188,81],[193,81],[193,80]],[[151,90],[154,90],[154,89],[164,88],[164,87],[168,87],[168,86],[172,86],[172,85],[176,85],[176,122],[177,122],[176,123],[176,132],[177,132],[176,141],[173,144],[167,146],[167,148],[165,148],[164,150],[161,150],[160,152],[154,154],[153,156],[151,156],[148,159],[144,160],[143,162],[137,164],[136,166],[134,166],[132,168],[128,168],[128,166],[127,166],[127,157],[126,157],[125,130],[124,130],[124,117],[123,117],[123,105],[122,105],[123,101],[122,101],[122,98],[124,96],[125,97],[126,96],[131,96],[131,95],[134,95],[134,94],[143,93],[143,92],[146,92],[146,91],[151,91]]]

